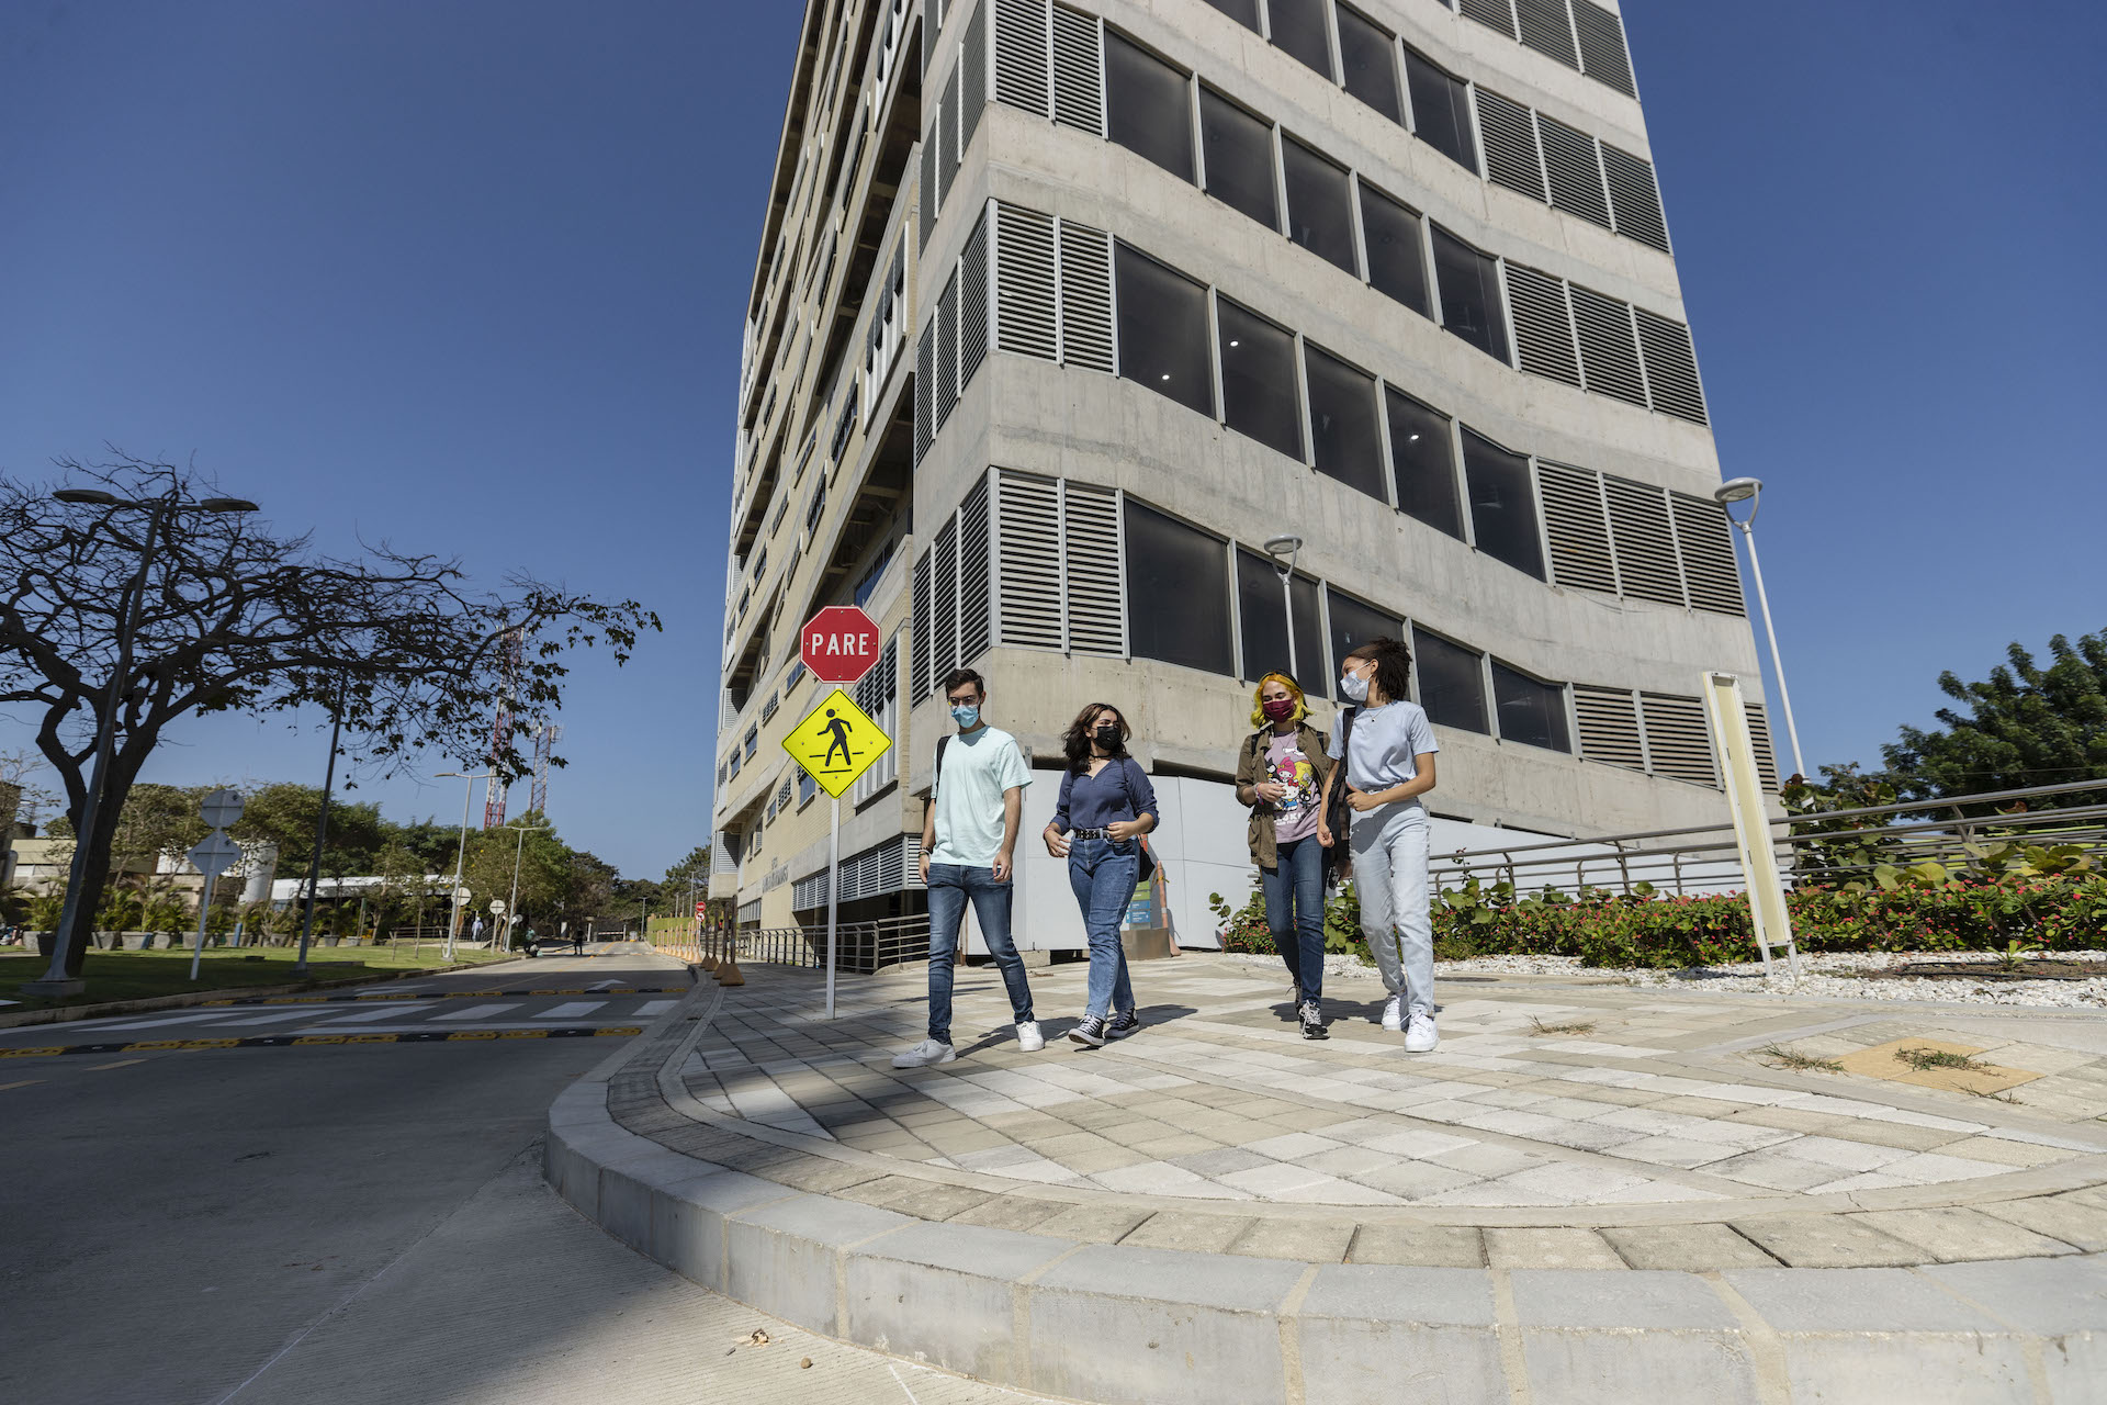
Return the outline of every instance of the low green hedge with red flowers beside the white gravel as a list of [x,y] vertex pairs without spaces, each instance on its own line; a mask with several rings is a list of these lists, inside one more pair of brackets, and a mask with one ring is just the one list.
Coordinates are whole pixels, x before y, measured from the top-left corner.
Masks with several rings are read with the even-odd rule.
[[[1879,889],[1797,887],[1785,895],[1804,952],[1981,952],[2012,942],[2048,952],[2107,944],[2107,876],[2006,883],[1947,880]],[[1224,918],[1224,950],[1275,950],[1264,902],[1254,893]],[[1578,956],[1591,967],[1694,967],[1753,961],[1755,933],[1740,895],[1665,893],[1515,897],[1509,885],[1441,893],[1433,910],[1435,954]],[[1359,902],[1344,885],[1325,910],[1325,948],[1361,952]]]

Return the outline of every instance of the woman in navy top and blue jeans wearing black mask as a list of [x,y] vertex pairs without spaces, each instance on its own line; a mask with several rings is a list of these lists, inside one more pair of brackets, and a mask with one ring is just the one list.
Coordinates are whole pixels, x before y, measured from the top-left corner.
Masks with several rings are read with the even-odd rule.
[[1127,756],[1131,735],[1112,704],[1089,704],[1077,712],[1062,737],[1068,767],[1060,779],[1060,805],[1043,834],[1047,853],[1068,859],[1068,887],[1089,935],[1089,1005],[1083,1022],[1068,1030],[1068,1038],[1089,1049],[1142,1028],[1119,927],[1140,880],[1142,834],[1157,828],[1157,792]]

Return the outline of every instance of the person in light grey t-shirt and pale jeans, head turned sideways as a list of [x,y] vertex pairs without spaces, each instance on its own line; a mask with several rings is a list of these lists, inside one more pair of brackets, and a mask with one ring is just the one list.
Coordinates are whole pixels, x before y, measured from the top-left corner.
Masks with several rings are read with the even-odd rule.
[[1431,1053],[1435,1030],[1435,929],[1426,912],[1426,805],[1435,788],[1435,729],[1412,701],[1412,653],[1395,638],[1372,638],[1340,661],[1340,693],[1355,706],[1332,723],[1325,819],[1317,840],[1330,849],[1330,800],[1342,794],[1353,815],[1346,849],[1361,897],[1361,935],[1391,990],[1382,1028],[1405,1030],[1405,1053]]

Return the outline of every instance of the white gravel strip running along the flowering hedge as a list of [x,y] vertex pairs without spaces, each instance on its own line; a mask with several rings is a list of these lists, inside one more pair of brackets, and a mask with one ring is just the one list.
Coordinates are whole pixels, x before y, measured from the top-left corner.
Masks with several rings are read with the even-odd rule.
[[[1654,971],[1633,967],[1587,967],[1578,956],[1473,956],[1469,961],[1441,961],[1435,965],[1435,979],[1443,975],[1578,975],[1616,977],[1629,986],[1648,990],[1675,990],[1677,994],[1816,994],[1848,1001],[1951,1001],[1964,1005],[2021,1005],[2035,1009],[2101,1009],[2107,1007],[2107,950],[2096,952],[2046,952],[2050,961],[2086,961],[2101,967],[2094,979],[2063,982],[1966,982],[1930,979],[1924,975],[1903,975],[1901,969],[1919,961],[1993,961],[1995,952],[1820,952],[1801,954],[1801,977],[1797,984],[1785,977],[1785,956],[1778,954],[1778,975],[1766,979],[1764,963],[1734,963],[1719,967],[1690,967],[1681,971]],[[1233,954],[1230,961],[1245,961],[1256,967],[1273,967],[1287,979],[1287,969],[1279,956]],[[1325,977],[1374,975],[1374,967],[1359,956],[1332,954],[1323,961]],[[1892,975],[1882,975],[1892,973]]]

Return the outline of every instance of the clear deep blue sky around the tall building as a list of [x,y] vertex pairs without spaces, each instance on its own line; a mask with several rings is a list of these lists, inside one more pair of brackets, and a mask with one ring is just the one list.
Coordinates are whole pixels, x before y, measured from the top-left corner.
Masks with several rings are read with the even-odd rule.
[[[577,670],[550,788],[571,843],[655,874],[708,838],[731,398],[799,11],[6,0],[0,470],[196,455],[324,548],[657,609],[630,668]],[[1624,15],[1721,457],[1770,484],[1808,760],[1877,760],[1943,668],[2107,628],[2080,434],[2107,369],[2107,17]],[[320,763],[312,731],[217,718],[147,779]],[[457,781],[365,798],[461,805]]]

